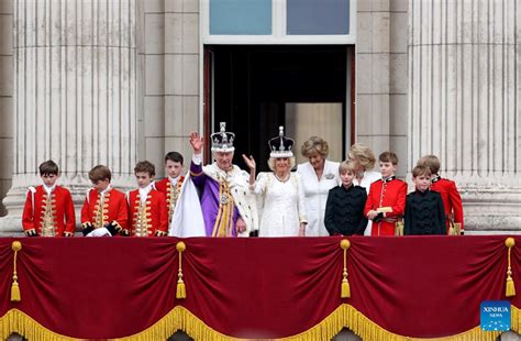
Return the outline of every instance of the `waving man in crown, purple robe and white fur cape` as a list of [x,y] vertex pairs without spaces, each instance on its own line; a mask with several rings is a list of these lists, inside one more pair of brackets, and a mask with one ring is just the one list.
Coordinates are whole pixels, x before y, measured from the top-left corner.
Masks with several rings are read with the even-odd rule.
[[203,138],[190,133],[193,150],[190,174],[174,212],[170,235],[248,237],[257,230],[250,175],[232,164],[234,140],[235,134],[226,132],[226,123],[221,122],[220,131],[211,135],[214,162],[202,166]]

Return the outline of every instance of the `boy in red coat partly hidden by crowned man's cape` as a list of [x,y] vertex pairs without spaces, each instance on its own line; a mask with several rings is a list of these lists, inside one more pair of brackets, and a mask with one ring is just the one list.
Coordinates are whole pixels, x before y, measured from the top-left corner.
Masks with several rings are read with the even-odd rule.
[[181,175],[182,162],[182,155],[178,152],[169,152],[166,154],[165,170],[167,177],[155,183],[156,189],[163,193],[166,197],[166,204],[168,207],[168,227],[170,226],[177,199],[179,198],[181,186],[185,182],[185,177]]

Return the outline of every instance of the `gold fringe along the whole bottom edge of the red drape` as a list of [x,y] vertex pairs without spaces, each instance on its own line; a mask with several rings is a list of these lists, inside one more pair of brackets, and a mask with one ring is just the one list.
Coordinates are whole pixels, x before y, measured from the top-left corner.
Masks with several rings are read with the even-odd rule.
[[[521,309],[511,306],[511,329],[514,332],[519,333],[521,326]],[[500,336],[500,332],[497,331],[483,331],[481,328],[478,326],[459,334],[445,338],[417,339],[403,337],[385,330],[375,322],[370,321],[367,317],[362,315],[352,306],[344,304],[336,308],[332,314],[330,314],[330,316],[328,316],[325,319],[323,319],[320,323],[312,327],[311,329],[292,337],[282,338],[280,340],[331,340],[343,328],[348,328],[363,340],[492,341]],[[171,309],[170,312],[168,312],[165,317],[163,317],[160,320],[158,320],[156,323],[145,329],[144,331],[115,340],[166,340],[171,337],[177,330],[185,331],[189,337],[193,338],[195,340],[240,340],[236,338],[226,337],[213,330],[212,328],[208,327],[203,321],[201,321],[198,317],[191,314],[188,309],[181,306],[177,306]],[[18,309],[11,309],[3,317],[0,318],[0,337],[7,339],[13,332],[19,333],[29,340],[79,340],[52,332]]]

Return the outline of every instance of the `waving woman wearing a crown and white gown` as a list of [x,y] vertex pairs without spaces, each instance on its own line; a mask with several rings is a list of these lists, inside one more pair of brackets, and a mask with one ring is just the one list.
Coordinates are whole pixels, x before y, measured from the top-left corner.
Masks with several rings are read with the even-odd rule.
[[264,199],[259,237],[304,237],[306,208],[300,176],[291,172],[295,167],[293,140],[279,135],[268,141],[268,166],[273,172],[259,173],[255,179],[255,160],[243,155],[250,167],[250,189]]

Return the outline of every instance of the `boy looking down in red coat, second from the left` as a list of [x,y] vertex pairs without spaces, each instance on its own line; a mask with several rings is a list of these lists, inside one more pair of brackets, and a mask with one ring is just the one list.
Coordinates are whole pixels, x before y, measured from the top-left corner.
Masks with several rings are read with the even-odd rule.
[[110,186],[111,177],[107,166],[98,165],[89,172],[93,187],[87,193],[81,208],[84,235],[130,235],[125,195]]

